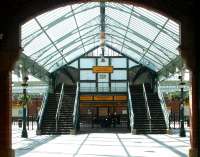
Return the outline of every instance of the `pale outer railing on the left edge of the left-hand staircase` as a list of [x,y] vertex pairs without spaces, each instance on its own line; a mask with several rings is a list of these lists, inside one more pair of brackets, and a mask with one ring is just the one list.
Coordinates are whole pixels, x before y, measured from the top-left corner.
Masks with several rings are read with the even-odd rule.
[[41,124],[42,124],[44,110],[45,110],[46,103],[47,103],[48,93],[49,93],[49,89],[47,88],[46,92],[44,93],[42,104],[41,104],[41,107],[40,107],[40,110],[39,110],[38,116],[37,116],[37,120],[38,120],[37,130],[41,130]]

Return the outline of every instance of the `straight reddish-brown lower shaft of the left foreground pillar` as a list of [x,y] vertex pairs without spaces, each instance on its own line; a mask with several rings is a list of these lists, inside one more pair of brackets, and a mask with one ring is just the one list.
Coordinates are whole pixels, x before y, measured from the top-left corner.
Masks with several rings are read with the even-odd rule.
[[12,157],[11,145],[11,74],[0,71],[0,156]]

